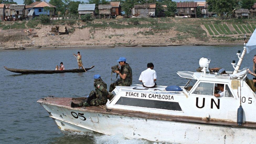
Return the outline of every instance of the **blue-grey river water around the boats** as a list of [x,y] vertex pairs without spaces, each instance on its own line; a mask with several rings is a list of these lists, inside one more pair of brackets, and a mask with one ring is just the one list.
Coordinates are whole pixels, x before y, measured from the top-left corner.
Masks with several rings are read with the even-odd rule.
[[[133,84],[140,84],[140,73],[153,62],[158,85],[184,85],[177,71],[195,71],[199,59],[211,59],[210,67],[233,71],[232,60],[243,46],[175,46],[175,47],[117,47],[88,49],[28,49],[0,50],[0,143],[150,143],[127,140],[121,135],[102,134],[63,135],[47,111],[36,101],[47,95],[80,97],[93,90],[93,75],[100,74],[110,85],[111,66],[119,57],[126,57],[133,72]],[[15,74],[4,69],[55,70],[60,62],[66,69],[77,68],[73,53],[81,52],[84,67],[95,67],[86,73]],[[243,67],[252,70],[255,52],[246,54]],[[113,79],[115,76],[113,75]],[[252,79],[252,76],[249,76]]]

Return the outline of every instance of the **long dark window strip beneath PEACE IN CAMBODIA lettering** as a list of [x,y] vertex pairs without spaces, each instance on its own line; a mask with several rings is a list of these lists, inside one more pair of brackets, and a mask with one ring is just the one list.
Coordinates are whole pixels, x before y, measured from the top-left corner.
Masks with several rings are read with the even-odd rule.
[[160,101],[160,100],[120,97],[120,99],[116,102],[116,104],[127,105],[127,106],[138,106],[142,108],[155,108],[155,109],[182,111],[178,102],[166,102],[166,101]]

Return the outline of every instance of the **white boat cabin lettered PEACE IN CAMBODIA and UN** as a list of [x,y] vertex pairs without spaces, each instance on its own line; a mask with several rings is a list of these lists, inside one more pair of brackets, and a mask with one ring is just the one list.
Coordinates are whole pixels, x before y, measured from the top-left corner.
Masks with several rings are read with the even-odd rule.
[[[106,106],[109,109],[236,121],[241,95],[244,111],[256,110],[256,95],[245,82],[247,72],[246,68],[237,74],[227,72],[221,75],[177,72],[180,77],[188,81],[184,87],[180,87],[182,89],[180,91],[168,91],[166,86],[156,88],[144,88],[142,85],[117,86],[112,92],[115,97],[108,101]],[[223,97],[214,96],[219,92],[218,84],[224,85]],[[255,116],[247,113],[244,121],[255,121]]]

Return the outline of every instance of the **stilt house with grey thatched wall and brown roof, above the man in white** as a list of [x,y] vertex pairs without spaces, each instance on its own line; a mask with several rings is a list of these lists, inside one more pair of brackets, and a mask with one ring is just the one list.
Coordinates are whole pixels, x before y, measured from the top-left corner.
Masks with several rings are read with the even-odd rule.
[[134,5],[134,8],[131,10],[134,16],[148,17],[156,14],[156,3],[145,3]]

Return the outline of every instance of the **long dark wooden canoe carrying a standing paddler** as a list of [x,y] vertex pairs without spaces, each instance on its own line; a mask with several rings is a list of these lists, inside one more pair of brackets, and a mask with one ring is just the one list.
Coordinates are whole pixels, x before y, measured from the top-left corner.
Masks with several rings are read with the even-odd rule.
[[[91,66],[90,68],[85,68],[86,71],[92,69],[94,66]],[[23,69],[15,69],[15,68],[7,68],[4,67],[6,70],[10,72],[15,72],[15,73],[21,73],[21,74],[35,74],[35,73],[44,73],[44,74],[52,74],[52,73],[66,73],[66,72],[74,72],[74,73],[80,73],[80,72],[85,72],[84,69],[72,69],[72,70],[62,70],[62,71],[55,71],[55,70],[23,70]]]

